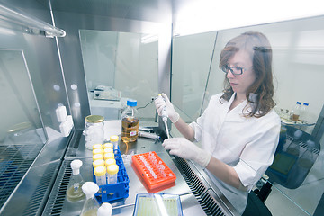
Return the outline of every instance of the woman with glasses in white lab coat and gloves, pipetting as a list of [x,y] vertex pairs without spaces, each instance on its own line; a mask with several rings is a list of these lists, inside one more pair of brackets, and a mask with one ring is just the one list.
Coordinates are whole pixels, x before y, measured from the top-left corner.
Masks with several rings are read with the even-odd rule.
[[[247,193],[273,162],[280,118],[275,113],[272,49],[266,36],[248,31],[229,40],[220,53],[223,93],[213,95],[202,116],[186,124],[162,94],[163,107],[184,138],[166,139],[170,154],[193,159],[241,214]],[[199,148],[193,141],[200,141]]]

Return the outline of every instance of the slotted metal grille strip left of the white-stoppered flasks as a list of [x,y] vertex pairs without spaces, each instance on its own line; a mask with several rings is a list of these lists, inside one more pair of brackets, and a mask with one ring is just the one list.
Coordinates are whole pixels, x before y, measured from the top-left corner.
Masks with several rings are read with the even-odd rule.
[[58,173],[57,182],[53,186],[53,188],[58,188],[58,190],[51,192],[43,215],[61,215],[66,200],[68,182],[72,175],[72,169],[68,164],[69,162],[64,161],[61,166],[61,170],[64,170],[64,172]]

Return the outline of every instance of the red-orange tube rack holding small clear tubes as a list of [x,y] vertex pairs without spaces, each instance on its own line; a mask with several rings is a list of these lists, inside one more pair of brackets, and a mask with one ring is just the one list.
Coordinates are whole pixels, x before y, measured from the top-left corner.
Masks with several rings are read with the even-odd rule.
[[133,165],[147,184],[153,190],[166,184],[175,183],[176,176],[155,151],[133,155]]

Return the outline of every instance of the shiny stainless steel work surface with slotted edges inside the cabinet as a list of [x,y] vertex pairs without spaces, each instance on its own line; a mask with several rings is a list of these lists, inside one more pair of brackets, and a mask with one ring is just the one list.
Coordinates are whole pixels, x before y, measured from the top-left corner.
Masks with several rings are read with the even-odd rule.
[[[124,166],[130,179],[129,196],[124,199],[111,202],[112,215],[132,215],[138,193],[171,193],[180,195],[184,216],[190,215],[237,215],[231,204],[218,189],[212,184],[202,168],[191,161],[185,161],[180,157],[170,156],[162,147],[161,140],[139,138],[127,145],[119,141]],[[131,155],[155,151],[176,175],[175,184],[169,188],[158,191],[150,191],[135,171],[131,164]],[[42,215],[79,215],[85,201],[69,202],[66,198],[67,185],[72,175],[70,162],[73,159],[83,162],[80,174],[85,182],[93,181],[92,151],[85,148],[85,138],[82,131],[76,130],[67,148],[63,162],[48,202]]]

